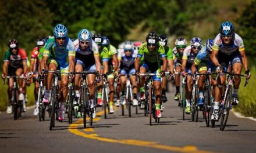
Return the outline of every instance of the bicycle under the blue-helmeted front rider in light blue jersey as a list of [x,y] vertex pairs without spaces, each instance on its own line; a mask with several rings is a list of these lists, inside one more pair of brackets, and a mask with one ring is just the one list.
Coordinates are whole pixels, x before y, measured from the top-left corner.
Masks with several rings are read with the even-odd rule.
[[[56,114],[56,120],[58,120],[58,108],[59,108],[59,103],[58,103],[58,77],[61,74],[67,74],[65,72],[61,72],[59,70],[56,71],[50,71],[50,70],[45,70],[45,72],[51,72],[54,73],[54,83],[52,84],[51,88],[51,97],[50,97],[50,103],[49,103],[49,117],[50,117],[50,127],[49,130],[52,130],[52,128],[55,127],[55,114]],[[61,121],[62,122],[62,121]]]

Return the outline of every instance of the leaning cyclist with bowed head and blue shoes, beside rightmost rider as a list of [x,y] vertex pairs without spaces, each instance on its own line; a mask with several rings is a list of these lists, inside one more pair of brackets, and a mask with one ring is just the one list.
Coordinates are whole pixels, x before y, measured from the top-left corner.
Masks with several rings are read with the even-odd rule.
[[[197,65],[198,65],[198,72],[201,74],[215,71],[216,67],[210,59],[213,45],[214,45],[214,41],[212,39],[208,39],[207,42],[205,43],[205,46],[197,53],[194,63],[191,66],[192,75],[195,74]],[[204,105],[204,88],[205,88],[204,79],[205,79],[204,75],[200,75],[200,78],[198,79],[199,100],[197,104],[199,107],[202,107],[202,105]],[[215,81],[214,79],[211,79],[210,82],[215,82]],[[214,85],[214,89],[215,89],[216,83],[212,83],[212,84]]]

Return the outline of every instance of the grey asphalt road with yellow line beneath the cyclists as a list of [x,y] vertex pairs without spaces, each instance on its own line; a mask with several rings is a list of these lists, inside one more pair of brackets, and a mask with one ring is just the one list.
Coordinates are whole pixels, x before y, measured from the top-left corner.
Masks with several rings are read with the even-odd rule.
[[[174,90],[174,88],[170,88]],[[160,123],[149,125],[143,111],[131,118],[115,114],[102,116],[97,109],[93,126],[83,129],[82,120],[69,125],[67,119],[57,122],[49,131],[49,120],[39,122],[33,109],[13,121],[13,115],[0,114],[0,152],[255,152],[256,122],[237,118],[230,113],[227,126],[219,130],[207,128],[202,119],[191,122],[190,115],[182,120],[182,112],[169,92]]]

